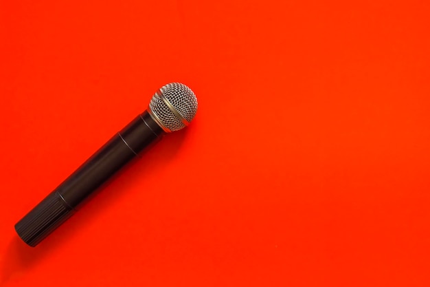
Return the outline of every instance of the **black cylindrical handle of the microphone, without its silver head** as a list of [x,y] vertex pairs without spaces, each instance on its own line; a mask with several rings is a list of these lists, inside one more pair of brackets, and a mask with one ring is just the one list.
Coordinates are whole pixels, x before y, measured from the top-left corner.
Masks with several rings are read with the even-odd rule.
[[163,134],[163,129],[144,111],[16,223],[16,233],[30,246],[39,244],[94,191]]

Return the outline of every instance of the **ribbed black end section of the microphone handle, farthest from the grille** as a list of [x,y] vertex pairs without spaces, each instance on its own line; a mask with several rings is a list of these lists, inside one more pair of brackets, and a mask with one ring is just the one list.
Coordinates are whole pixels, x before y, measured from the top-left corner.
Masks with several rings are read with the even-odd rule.
[[26,244],[34,247],[72,214],[63,198],[53,192],[15,224],[15,230]]

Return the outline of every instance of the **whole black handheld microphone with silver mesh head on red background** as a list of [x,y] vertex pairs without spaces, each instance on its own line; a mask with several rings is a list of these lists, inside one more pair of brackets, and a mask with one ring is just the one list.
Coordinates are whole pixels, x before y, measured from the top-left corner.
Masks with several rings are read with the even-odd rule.
[[39,244],[145,147],[164,134],[187,126],[196,111],[197,98],[189,87],[181,83],[161,87],[143,114],[106,142],[15,224],[16,233],[32,247]]

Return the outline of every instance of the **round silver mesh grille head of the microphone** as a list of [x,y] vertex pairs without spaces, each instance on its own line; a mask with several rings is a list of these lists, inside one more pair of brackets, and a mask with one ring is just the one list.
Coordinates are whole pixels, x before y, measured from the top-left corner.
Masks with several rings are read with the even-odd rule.
[[183,120],[175,115],[169,105],[163,100],[162,96],[170,103],[188,123],[194,118],[197,111],[197,98],[192,90],[181,83],[170,83],[159,89],[149,103],[149,109],[152,114],[157,116],[158,120],[170,131],[183,129],[185,124]]

